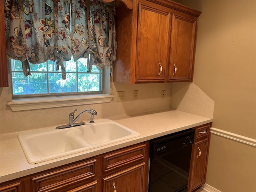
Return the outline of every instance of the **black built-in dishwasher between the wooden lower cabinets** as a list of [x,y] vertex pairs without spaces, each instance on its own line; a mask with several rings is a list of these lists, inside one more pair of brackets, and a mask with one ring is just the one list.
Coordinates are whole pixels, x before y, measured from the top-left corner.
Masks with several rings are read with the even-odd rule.
[[149,192],[187,192],[194,130],[150,141]]

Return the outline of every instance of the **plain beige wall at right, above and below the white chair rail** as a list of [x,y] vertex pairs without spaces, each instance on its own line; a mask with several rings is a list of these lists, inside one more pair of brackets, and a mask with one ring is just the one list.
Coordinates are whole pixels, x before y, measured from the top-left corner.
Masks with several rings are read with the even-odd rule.
[[[256,139],[256,1],[179,1],[199,17],[194,84],[214,100],[214,128]],[[256,148],[212,135],[206,184],[256,191]]]

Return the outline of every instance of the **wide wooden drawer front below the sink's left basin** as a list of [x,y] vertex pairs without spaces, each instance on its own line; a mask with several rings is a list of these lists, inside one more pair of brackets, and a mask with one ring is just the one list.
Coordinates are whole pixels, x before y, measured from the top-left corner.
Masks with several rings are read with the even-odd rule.
[[46,173],[32,178],[32,191],[53,192],[68,191],[72,186],[79,186],[86,179],[94,177],[96,160],[82,162],[57,171]]

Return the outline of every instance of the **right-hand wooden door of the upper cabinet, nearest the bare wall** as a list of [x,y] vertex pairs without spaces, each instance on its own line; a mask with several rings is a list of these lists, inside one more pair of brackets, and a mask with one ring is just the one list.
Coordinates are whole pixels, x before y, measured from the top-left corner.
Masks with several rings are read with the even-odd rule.
[[193,80],[196,20],[186,14],[172,17],[169,81]]

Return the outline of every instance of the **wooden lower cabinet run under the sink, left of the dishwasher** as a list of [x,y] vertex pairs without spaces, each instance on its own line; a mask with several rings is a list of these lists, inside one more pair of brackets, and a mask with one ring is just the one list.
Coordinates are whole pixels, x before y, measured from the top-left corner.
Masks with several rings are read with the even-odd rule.
[[149,142],[1,183],[0,192],[146,192]]

